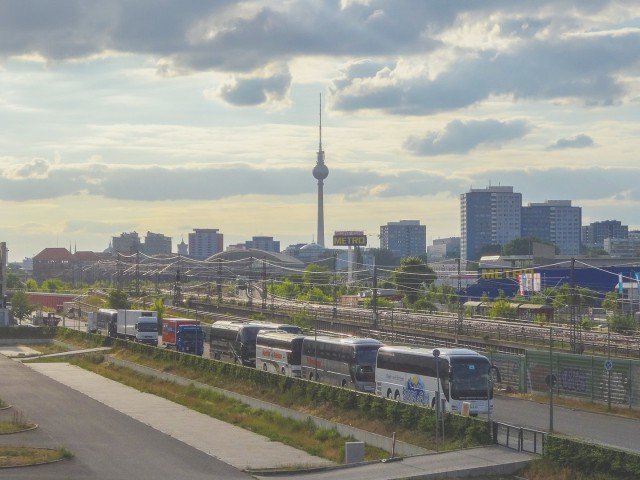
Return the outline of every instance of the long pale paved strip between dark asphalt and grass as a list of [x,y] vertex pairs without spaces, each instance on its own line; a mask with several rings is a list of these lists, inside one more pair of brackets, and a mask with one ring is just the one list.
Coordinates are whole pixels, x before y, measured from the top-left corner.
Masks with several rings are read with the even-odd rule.
[[189,410],[68,363],[27,364],[57,382],[236,468],[331,464],[301,450]]

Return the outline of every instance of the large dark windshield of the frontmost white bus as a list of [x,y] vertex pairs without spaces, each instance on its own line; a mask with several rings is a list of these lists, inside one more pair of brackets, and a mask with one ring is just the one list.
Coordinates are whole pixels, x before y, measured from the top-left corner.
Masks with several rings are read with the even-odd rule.
[[451,362],[451,397],[457,400],[486,399],[490,364],[486,358],[456,358]]

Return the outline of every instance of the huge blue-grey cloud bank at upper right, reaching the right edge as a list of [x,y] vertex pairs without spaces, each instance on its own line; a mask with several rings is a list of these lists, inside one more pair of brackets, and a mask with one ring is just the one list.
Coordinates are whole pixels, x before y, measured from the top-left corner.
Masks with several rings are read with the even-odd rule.
[[493,96],[514,99],[574,99],[610,105],[627,92],[619,74],[640,65],[640,31],[525,41],[509,51],[459,57],[435,78],[399,69],[385,78],[334,81],[339,110],[380,109],[430,115],[466,108]]

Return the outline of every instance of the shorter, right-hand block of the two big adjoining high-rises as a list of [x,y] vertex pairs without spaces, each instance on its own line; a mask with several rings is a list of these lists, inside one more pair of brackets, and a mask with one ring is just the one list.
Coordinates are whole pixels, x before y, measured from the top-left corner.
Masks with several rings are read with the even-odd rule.
[[548,200],[522,207],[522,236],[553,243],[561,255],[580,253],[582,208],[571,200]]

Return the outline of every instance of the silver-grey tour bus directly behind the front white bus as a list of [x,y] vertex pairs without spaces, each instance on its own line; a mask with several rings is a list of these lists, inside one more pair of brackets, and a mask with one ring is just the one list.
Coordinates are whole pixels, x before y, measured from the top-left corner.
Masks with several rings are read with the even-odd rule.
[[302,378],[373,392],[376,352],[381,346],[372,338],[305,337]]

